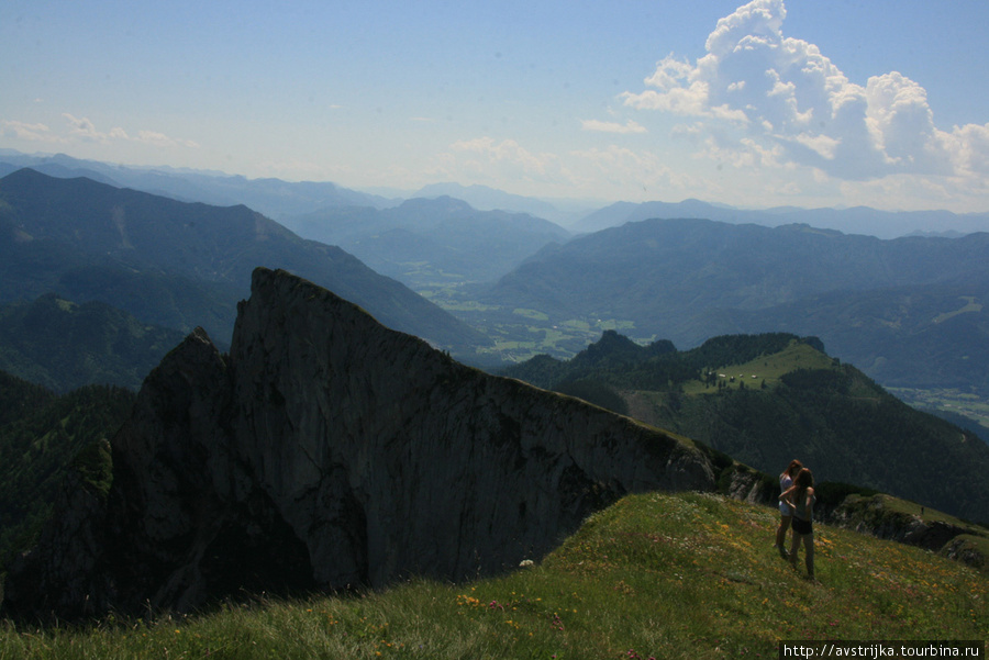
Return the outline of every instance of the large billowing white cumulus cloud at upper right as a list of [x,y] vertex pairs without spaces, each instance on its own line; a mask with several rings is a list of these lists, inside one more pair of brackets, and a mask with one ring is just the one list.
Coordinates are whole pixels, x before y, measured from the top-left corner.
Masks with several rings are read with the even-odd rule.
[[746,139],[708,148],[722,157],[736,148],[736,163],[773,154],[778,166],[849,181],[986,172],[989,125],[937,128],[924,88],[897,71],[849,81],[818,46],[784,35],[786,15],[782,0],[740,7],[718,21],[704,56],[691,64],[670,54],[644,80],[647,89],[621,98],[630,108],[726,122]]

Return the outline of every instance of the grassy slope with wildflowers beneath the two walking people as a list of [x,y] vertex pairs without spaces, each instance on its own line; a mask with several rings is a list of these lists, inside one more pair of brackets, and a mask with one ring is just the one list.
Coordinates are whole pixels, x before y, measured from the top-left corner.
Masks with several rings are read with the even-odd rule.
[[780,639],[987,639],[989,579],[818,528],[818,578],[771,549],[774,510],[635,495],[541,564],[473,584],[229,605],[186,618],[15,631],[8,658],[776,658]]

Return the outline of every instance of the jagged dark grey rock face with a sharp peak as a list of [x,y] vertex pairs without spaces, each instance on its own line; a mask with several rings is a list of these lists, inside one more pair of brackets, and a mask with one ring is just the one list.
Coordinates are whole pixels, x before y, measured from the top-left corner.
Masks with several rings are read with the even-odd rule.
[[11,568],[8,612],[474,578],[538,558],[627,492],[714,488],[687,443],[467,368],[266,269],[230,356],[190,335],[112,444],[109,497],[71,518],[104,541],[67,558],[46,532]]

